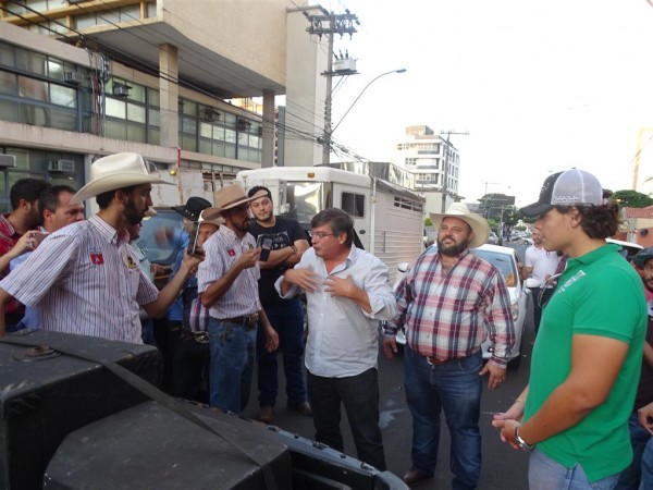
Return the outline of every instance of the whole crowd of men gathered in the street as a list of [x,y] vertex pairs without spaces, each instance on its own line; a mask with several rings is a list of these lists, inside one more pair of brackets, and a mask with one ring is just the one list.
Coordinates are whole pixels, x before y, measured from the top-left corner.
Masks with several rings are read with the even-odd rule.
[[[148,320],[167,316],[171,394],[239,414],[256,371],[259,418],[271,422],[281,357],[287,408],[313,417],[315,439],[344,450],[343,406],[358,458],[383,470],[383,320],[389,359],[398,329],[407,341],[412,464],[404,481],[433,477],[444,414],[452,488],[480,486],[482,380],[501,387],[515,343],[504,279],[470,252],[488,240],[485,219],[460,203],[431,213],[436,244],[393,292],[387,267],[354,245],[346,212],[320,211],[307,233],[274,216],[267,187],[246,194],[232,184],[213,205],[190,197],[174,208],[185,230],[168,236],[178,254],[159,290],[136,238],[153,213],[152,185],[164,184],[137,154],[95,161],[78,192],[17,181],[12,211],[0,216],[0,336],[29,328],[155,343]],[[89,198],[99,211],[84,219]],[[642,290],[653,290],[653,250],[634,258],[638,275],[605,243],[618,208],[588,172],[551,175],[521,212],[535,219],[526,272],[540,280],[544,301],[529,385],[492,424],[510,446],[531,452],[531,489],[653,488],[653,322]],[[564,270],[550,281],[559,255]],[[492,356],[483,363],[485,339]]]

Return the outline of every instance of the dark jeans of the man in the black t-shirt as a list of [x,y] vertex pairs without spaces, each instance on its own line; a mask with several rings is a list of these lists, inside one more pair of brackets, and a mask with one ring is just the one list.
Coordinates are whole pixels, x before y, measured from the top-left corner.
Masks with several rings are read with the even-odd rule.
[[[288,405],[306,400],[306,384],[301,356],[304,355],[304,309],[299,297],[276,303],[264,303],[263,309],[279,334],[279,351],[283,355]],[[279,351],[266,350],[266,335],[259,326],[257,341],[258,387],[260,406],[274,406],[279,392],[276,357]]]

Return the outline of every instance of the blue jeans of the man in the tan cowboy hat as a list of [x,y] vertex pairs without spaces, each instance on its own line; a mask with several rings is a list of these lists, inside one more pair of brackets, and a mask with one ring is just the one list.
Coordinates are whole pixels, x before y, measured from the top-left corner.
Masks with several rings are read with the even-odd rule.
[[249,401],[256,352],[256,329],[209,320],[211,373],[209,404],[239,414]]

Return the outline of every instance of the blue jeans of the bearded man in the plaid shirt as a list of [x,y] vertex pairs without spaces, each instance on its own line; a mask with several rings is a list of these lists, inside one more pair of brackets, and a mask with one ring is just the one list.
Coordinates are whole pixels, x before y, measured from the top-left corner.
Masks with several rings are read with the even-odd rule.
[[473,489],[481,474],[481,353],[431,366],[410,347],[404,350],[404,385],[412,414],[412,469],[432,476],[440,445],[440,413],[451,432],[452,488]]

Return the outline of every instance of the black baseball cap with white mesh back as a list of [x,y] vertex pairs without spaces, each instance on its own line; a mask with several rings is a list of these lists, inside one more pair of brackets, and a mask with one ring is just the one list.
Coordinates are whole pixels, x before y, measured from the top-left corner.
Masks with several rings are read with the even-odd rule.
[[600,206],[603,187],[599,180],[584,170],[571,169],[550,175],[542,185],[540,199],[521,208],[527,218],[537,218],[554,206]]

